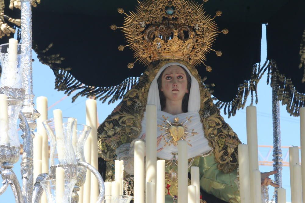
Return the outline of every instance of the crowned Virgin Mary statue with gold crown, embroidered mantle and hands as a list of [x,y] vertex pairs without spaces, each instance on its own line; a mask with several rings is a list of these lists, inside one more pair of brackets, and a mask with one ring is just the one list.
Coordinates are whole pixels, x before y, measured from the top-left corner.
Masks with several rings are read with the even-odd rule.
[[[216,16],[220,15],[217,11]],[[217,34],[228,33],[218,31],[213,19],[204,14],[201,5],[184,0],[139,2],[136,12],[125,17],[122,29],[130,43],[127,46],[148,68],[99,126],[99,156],[106,161],[106,181],[113,180],[115,159],[124,160],[125,178],[133,175],[134,142],[145,140],[145,106],[154,104],[157,143],[146,145],[157,144],[157,158],[166,160],[166,202],[178,195],[179,140],[188,142],[188,167],[199,166],[201,191],[211,194],[210,201],[240,202],[240,141],[220,115],[195,67],[205,61],[206,53],[214,51],[211,47]],[[221,55],[221,51],[215,52]],[[128,64],[128,68],[132,66]],[[263,184],[271,184],[268,175],[274,173],[263,173]]]

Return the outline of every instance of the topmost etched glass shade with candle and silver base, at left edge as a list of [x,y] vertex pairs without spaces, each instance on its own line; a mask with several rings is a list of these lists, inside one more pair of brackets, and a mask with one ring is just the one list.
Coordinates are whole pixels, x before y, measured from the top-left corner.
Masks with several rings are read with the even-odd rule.
[[27,54],[28,48],[23,44],[0,45],[0,94],[5,94],[9,99],[24,98],[23,88],[23,63],[21,58]]

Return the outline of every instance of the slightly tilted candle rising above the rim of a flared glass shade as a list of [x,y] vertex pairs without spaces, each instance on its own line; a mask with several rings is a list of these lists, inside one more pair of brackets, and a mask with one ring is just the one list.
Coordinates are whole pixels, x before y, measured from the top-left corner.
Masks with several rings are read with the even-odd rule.
[[56,149],[58,160],[64,158],[63,151],[65,149],[64,137],[63,137],[63,112],[60,109],[53,110],[54,125],[56,132]]

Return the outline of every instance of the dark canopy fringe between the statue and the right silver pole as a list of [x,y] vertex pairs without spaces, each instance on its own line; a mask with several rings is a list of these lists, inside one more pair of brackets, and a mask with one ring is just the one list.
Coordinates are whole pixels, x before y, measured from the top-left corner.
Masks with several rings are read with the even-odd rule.
[[[228,114],[228,118],[236,115],[236,111],[239,109],[243,109],[246,105],[247,98],[251,93],[251,104],[254,102],[254,94],[255,94],[255,103],[258,103],[258,95],[257,95],[257,84],[268,69],[268,60],[265,61],[264,65],[261,66],[260,63],[257,65],[253,65],[251,79],[245,80],[242,84],[239,85],[237,94],[233,100],[230,102],[222,102],[214,97],[214,100],[217,100],[216,106],[219,110],[224,107],[224,115]],[[253,94],[254,93],[254,94]]]

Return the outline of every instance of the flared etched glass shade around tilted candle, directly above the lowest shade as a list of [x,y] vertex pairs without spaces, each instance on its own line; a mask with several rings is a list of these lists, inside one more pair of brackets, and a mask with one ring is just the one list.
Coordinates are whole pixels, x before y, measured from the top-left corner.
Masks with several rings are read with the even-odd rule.
[[76,157],[72,146],[72,133],[75,125],[75,118],[63,118],[61,133],[55,131],[54,118],[43,123],[50,140],[50,166],[75,164]]

